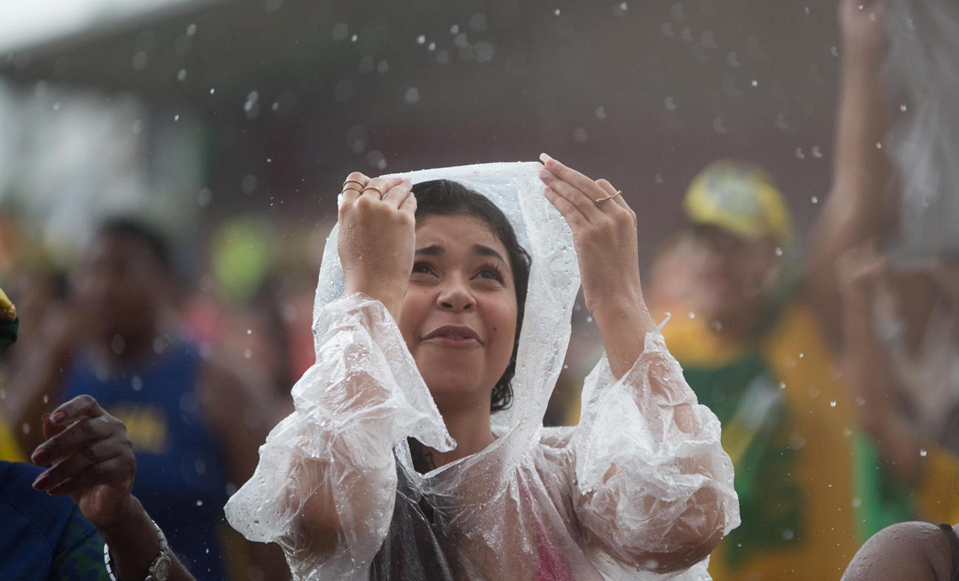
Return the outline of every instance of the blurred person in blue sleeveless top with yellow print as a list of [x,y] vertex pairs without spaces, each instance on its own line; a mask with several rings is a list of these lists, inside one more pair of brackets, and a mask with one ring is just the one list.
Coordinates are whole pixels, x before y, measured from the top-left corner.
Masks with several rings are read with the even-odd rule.
[[[14,425],[32,426],[18,433],[24,450],[39,443],[35,418],[46,408],[81,394],[101,402],[128,427],[139,466],[134,494],[199,579],[222,579],[222,506],[230,483],[256,466],[271,407],[263,390],[181,337],[174,279],[152,227],[107,221],[8,400]],[[247,548],[254,578],[288,574],[276,547]]]

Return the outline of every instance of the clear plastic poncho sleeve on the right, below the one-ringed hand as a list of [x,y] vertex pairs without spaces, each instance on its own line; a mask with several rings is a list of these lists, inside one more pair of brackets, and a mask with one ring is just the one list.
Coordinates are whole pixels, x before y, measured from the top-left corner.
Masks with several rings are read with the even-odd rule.
[[569,445],[573,511],[600,569],[612,559],[678,571],[738,525],[733,463],[663,336],[649,333],[644,344],[620,380],[603,358],[584,385]]

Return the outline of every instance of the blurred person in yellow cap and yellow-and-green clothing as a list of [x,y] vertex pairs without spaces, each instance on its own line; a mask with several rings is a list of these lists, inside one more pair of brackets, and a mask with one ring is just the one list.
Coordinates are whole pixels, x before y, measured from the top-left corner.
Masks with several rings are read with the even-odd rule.
[[[786,263],[784,200],[760,169],[722,161],[692,182],[685,208],[690,223],[657,257],[650,294],[670,309],[667,346],[736,466],[742,524],[710,573],[837,578],[858,546],[854,416]],[[678,259],[686,272],[670,267]],[[658,278],[676,272],[678,282]]]

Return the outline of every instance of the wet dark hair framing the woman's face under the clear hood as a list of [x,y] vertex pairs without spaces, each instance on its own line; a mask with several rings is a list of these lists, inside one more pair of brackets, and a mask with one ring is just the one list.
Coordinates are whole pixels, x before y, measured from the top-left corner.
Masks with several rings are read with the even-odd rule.
[[493,387],[489,406],[491,412],[506,409],[513,402],[512,381],[516,373],[516,352],[520,346],[520,330],[523,328],[523,314],[526,311],[526,290],[529,287],[529,253],[516,240],[516,232],[506,220],[503,211],[482,194],[455,181],[434,179],[414,185],[413,195],[416,197],[416,221],[430,216],[478,218],[489,225],[493,234],[506,248],[516,287],[516,340],[513,342],[513,355],[509,358],[509,365],[506,366],[503,377]]

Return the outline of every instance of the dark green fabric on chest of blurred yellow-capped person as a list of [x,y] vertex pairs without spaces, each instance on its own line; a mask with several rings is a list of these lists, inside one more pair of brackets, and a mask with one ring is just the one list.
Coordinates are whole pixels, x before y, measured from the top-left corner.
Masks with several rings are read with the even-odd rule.
[[[723,447],[736,456],[742,525],[725,541],[728,564],[801,541],[804,495],[790,477],[801,451],[789,446],[792,422],[765,361],[753,353],[718,368],[687,364],[683,373],[722,423]],[[770,403],[757,408],[760,400]]]

